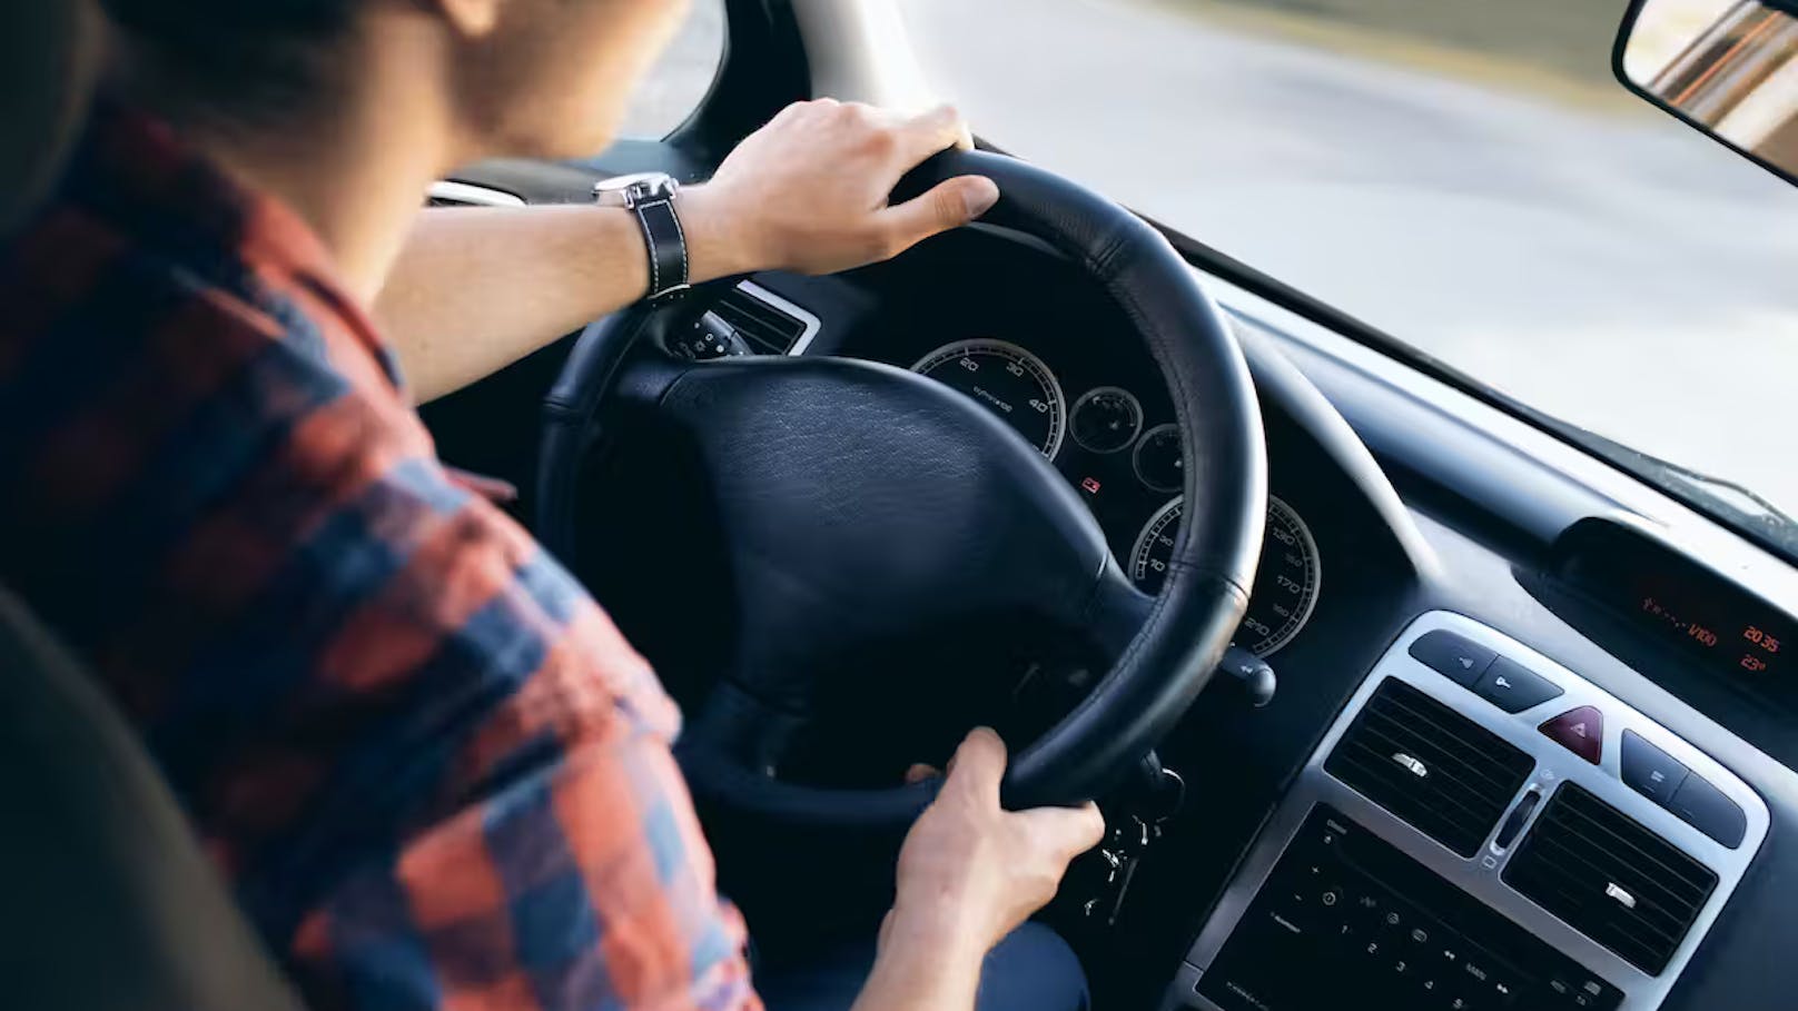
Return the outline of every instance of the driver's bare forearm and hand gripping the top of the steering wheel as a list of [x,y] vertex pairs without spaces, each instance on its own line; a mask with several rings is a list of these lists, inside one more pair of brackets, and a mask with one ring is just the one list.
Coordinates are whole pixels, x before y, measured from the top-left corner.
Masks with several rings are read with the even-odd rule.
[[[694,284],[755,270],[834,273],[964,225],[998,201],[991,180],[948,180],[899,205],[899,176],[966,139],[955,110],[903,121],[800,103],[676,200]],[[421,401],[467,385],[638,300],[649,254],[624,209],[469,207],[419,216],[376,317]]]

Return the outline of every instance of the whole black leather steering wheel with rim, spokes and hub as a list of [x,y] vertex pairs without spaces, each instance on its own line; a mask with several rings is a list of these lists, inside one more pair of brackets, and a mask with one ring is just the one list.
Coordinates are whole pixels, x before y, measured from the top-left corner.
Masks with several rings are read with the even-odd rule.
[[[901,826],[933,783],[843,790],[788,783],[779,752],[829,658],[978,613],[1028,610],[1079,631],[1109,673],[1016,754],[1009,808],[1099,797],[1197,698],[1248,604],[1266,514],[1253,383],[1194,272],[1109,200],[1012,158],[949,151],[903,194],[992,178],[984,218],[1046,241],[1091,277],[1147,345],[1174,401],[1187,509],[1167,581],[1136,590],[1091,511],[1034,446],[933,380],[847,358],[678,362],[638,335],[665,306],[592,324],[545,403],[538,536],[565,559],[577,473],[595,439],[653,414],[698,450],[734,581],[734,655],[681,736],[696,792],[775,819]],[[619,425],[619,421],[624,421]],[[1016,745],[1016,743],[1014,743]]]

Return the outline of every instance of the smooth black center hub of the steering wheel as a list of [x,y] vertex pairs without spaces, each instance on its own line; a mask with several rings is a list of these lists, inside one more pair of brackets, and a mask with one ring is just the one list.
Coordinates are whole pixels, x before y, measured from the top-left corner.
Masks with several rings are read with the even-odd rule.
[[1009,426],[913,372],[841,358],[690,369],[660,414],[699,446],[746,642],[739,678],[802,703],[809,667],[967,613],[1077,613],[1104,531]]

